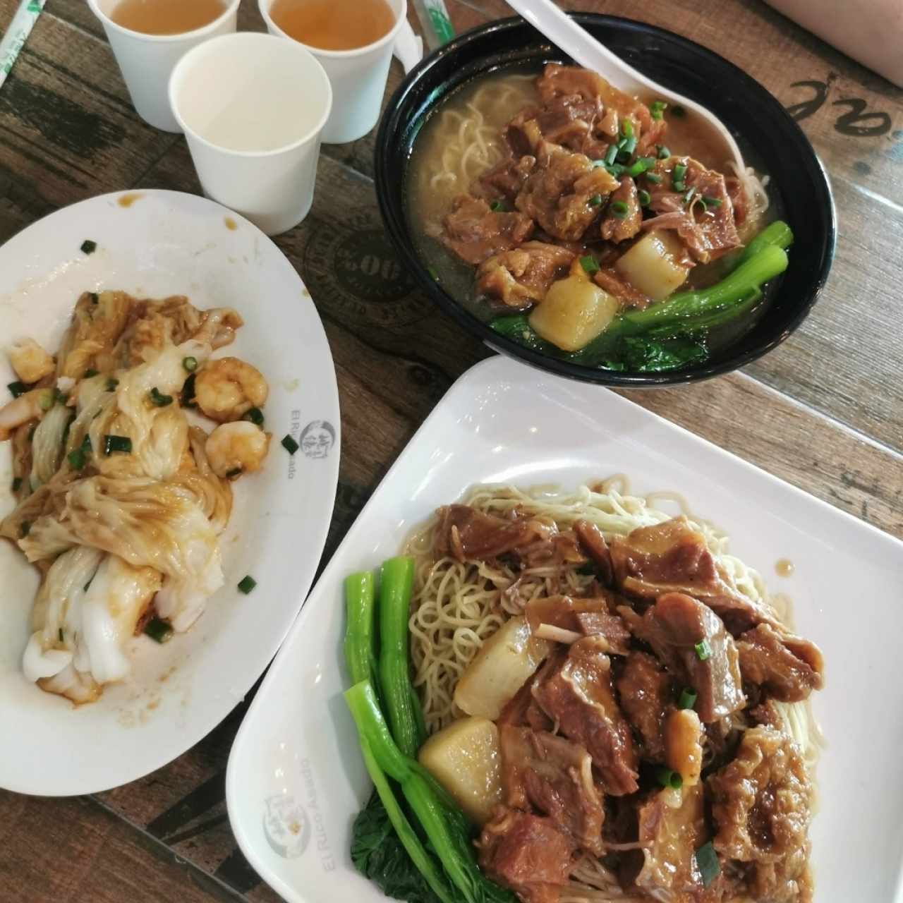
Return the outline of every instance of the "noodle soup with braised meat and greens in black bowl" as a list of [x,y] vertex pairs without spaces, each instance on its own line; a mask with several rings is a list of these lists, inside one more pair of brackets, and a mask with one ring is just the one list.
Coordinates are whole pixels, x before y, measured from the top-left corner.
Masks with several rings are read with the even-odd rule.
[[[655,353],[638,369],[680,368],[716,354],[767,316],[776,277],[787,265],[783,248],[792,235],[768,197],[768,177],[751,167],[732,173],[718,159],[717,134],[690,111],[628,98],[604,82],[594,109],[593,88],[586,87],[593,83],[576,83],[582,95],[562,93],[573,86],[549,88],[554,79],[572,78],[569,73],[598,79],[554,64],[545,75],[505,70],[472,79],[433,110],[406,170],[418,254],[472,315],[552,356],[637,369],[637,356],[619,349],[626,339],[652,348],[636,322],[656,320],[658,327],[662,305],[675,300],[695,304],[700,315],[692,329],[671,318],[671,333],[659,330]],[[600,131],[612,126],[613,134]],[[524,144],[524,135],[534,143]],[[755,164],[749,148],[743,151]],[[556,172],[568,166],[577,172],[570,181]],[[580,179],[598,187],[580,198]],[[550,198],[551,184],[560,193]],[[632,229],[621,221],[628,218]],[[761,250],[754,239],[772,222],[781,228],[759,242],[780,246],[768,250],[768,266],[721,300],[713,287],[749,261],[750,242]],[[569,267],[573,285],[567,287]],[[544,317],[553,306],[561,311]],[[595,325],[544,329],[544,320],[555,317]]]

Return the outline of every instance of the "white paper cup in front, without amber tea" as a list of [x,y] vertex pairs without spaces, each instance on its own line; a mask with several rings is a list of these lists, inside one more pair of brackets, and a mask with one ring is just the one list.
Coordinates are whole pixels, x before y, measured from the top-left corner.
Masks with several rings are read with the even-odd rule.
[[267,235],[307,216],[332,90],[301,44],[249,32],[213,38],[176,64],[169,94],[204,194]]

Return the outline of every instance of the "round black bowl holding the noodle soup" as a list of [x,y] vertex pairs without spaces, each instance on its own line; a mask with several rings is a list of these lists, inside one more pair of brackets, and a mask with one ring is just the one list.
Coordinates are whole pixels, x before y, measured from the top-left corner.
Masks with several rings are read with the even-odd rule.
[[509,66],[572,62],[523,19],[481,26],[446,44],[414,69],[389,102],[377,135],[379,208],[405,266],[435,303],[492,348],[565,377],[609,386],[662,386],[713,377],[748,364],[796,329],[824,286],[834,252],[836,222],[831,188],[802,130],[759,82],[712,51],[676,34],[610,15],[573,18],[611,51],[651,79],[708,107],[742,138],[770,173],[768,191],[780,195],[795,241],[790,264],[768,312],[752,329],[703,364],[662,373],[583,367],[526,349],[467,312],[427,272],[414,250],[405,212],[405,170],[426,117],[455,88]]

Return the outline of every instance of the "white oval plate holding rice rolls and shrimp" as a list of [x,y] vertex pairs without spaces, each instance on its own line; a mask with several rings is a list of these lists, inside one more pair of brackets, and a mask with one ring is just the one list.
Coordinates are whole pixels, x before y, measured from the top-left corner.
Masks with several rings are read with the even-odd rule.
[[[90,256],[79,250],[85,239],[98,243]],[[0,787],[23,793],[117,787],[175,759],[222,721],[301,608],[335,500],[339,396],[311,296],[263,232],[196,195],[107,194],[53,213],[0,248],[0,396],[14,379],[7,343],[30,335],[55,349],[79,293],[105,288],[235,307],[245,326],[218,353],[264,373],[273,442],[265,469],[235,487],[219,540],[226,585],[188,633],[165,646],[135,638],[133,674],[97,703],[75,707],[24,679],[38,580],[23,554],[0,540]],[[300,442],[317,421],[330,429],[312,427],[290,458],[280,440],[292,433]],[[0,516],[12,507],[10,451],[2,443]],[[257,582],[247,596],[236,589],[246,574]]]

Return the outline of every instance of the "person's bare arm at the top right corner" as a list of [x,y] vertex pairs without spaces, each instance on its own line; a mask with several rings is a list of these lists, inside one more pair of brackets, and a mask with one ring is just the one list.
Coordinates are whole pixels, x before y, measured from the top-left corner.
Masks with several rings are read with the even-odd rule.
[[903,88],[903,0],[766,0]]

